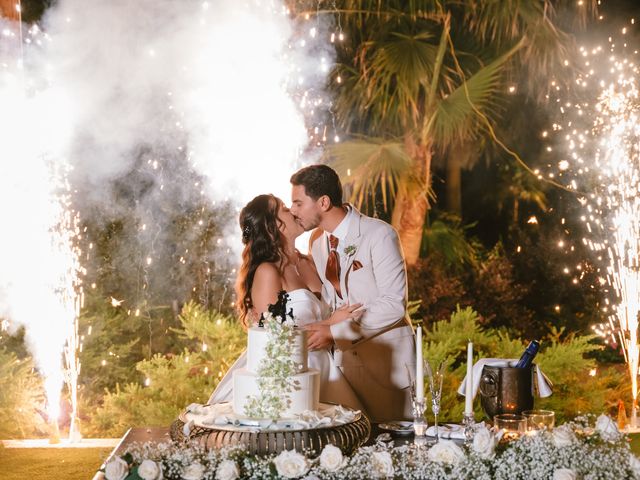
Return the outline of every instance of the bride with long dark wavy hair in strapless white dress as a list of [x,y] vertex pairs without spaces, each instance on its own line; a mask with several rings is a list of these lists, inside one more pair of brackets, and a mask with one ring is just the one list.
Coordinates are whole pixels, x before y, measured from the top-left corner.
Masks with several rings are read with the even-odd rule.
[[[358,319],[361,305],[345,305],[330,314],[320,300],[322,282],[313,259],[295,249],[295,239],[304,229],[296,222],[282,200],[273,195],[258,195],[240,212],[242,229],[242,266],[236,284],[237,305],[245,328],[257,323],[269,305],[275,305],[278,293],[289,294],[287,310],[292,309],[296,324],[304,327],[322,322],[326,325],[348,318]],[[320,371],[320,401],[364,410],[333,355],[309,344],[309,368]],[[209,404],[230,402],[233,371],[244,368],[246,351],[240,355],[211,394]]]

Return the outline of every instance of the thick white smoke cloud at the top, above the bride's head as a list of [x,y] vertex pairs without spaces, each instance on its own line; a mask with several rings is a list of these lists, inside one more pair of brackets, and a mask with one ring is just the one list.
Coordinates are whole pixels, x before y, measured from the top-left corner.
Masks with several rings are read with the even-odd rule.
[[98,192],[150,144],[187,148],[214,200],[288,197],[307,138],[286,91],[299,74],[283,7],[63,0],[45,28],[52,81],[72,97],[74,167]]

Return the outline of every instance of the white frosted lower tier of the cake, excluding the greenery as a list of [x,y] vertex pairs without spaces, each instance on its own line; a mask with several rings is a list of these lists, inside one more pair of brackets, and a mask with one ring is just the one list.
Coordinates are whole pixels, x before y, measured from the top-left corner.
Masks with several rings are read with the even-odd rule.
[[[291,418],[305,410],[317,410],[320,402],[320,372],[307,370],[293,375],[295,388],[288,393],[291,403],[282,412],[283,418]],[[241,368],[233,372],[233,411],[236,415],[244,415],[244,406],[249,396],[260,394],[258,376]]]

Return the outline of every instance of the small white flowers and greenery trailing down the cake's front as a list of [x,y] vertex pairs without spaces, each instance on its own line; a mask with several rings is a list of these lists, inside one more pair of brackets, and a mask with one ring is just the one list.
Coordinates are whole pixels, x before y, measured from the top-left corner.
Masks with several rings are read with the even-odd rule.
[[289,393],[295,388],[293,375],[297,365],[291,356],[291,343],[296,332],[292,319],[276,317],[271,312],[262,320],[267,330],[265,361],[256,372],[259,394],[247,398],[244,413],[251,418],[276,420],[290,402]]

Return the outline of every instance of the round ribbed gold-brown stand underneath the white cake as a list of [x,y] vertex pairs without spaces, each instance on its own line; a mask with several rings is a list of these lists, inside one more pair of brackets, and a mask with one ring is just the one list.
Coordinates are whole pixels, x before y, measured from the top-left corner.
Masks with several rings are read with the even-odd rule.
[[351,455],[362,446],[371,434],[371,422],[362,412],[356,413],[351,422],[341,425],[320,426],[302,430],[247,429],[246,426],[214,425],[191,427],[185,435],[186,412],[171,424],[171,438],[178,443],[198,445],[205,449],[227,446],[243,446],[256,455],[277,454],[283,450],[296,450],[308,455],[319,455],[325,445],[340,448]]

